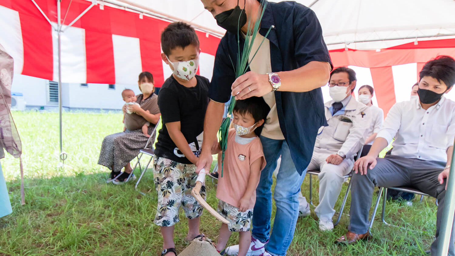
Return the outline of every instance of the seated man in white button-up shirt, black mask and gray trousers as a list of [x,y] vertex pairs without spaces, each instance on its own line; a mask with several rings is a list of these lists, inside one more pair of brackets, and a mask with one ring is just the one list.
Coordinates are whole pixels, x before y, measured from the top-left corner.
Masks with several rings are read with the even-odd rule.
[[[389,110],[384,128],[368,155],[355,162],[349,231],[337,242],[351,244],[368,239],[369,209],[375,186],[411,186],[439,201],[436,239],[431,245],[431,255],[436,255],[455,136],[455,102],[443,95],[454,84],[455,60],[438,56],[420,71],[419,99],[396,103]],[[377,158],[394,137],[392,154]],[[454,229],[450,256],[455,255]]]

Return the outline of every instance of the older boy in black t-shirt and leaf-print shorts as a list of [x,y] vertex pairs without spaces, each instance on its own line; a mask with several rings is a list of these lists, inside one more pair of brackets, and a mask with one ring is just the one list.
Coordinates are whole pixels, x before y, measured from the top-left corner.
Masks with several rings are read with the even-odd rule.
[[[196,162],[201,152],[202,130],[208,105],[209,80],[196,75],[199,65],[199,40],[183,22],[174,22],[161,34],[162,59],[172,75],[161,87],[158,106],[162,129],[158,132],[153,176],[158,192],[155,224],[161,226],[162,256],[174,256],[174,225],[182,206],[188,218],[187,240],[203,236],[199,217],[203,207],[191,195],[196,184]],[[205,199],[205,187],[201,195]]]

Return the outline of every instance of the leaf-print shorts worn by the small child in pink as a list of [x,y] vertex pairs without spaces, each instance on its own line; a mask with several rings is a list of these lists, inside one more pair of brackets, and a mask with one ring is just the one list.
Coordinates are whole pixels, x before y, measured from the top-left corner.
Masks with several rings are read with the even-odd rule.
[[251,219],[253,218],[253,209],[247,211],[238,211],[238,208],[231,206],[227,202],[218,200],[218,213],[225,217],[229,224],[227,228],[232,232],[250,231]]

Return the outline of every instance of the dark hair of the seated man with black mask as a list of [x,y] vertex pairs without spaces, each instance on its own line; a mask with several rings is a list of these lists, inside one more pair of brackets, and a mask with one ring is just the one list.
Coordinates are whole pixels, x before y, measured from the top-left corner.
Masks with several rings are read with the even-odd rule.
[[455,60],[450,56],[439,55],[425,63],[419,76],[420,80],[424,76],[431,76],[439,82],[443,81],[447,89],[450,89],[455,84]]

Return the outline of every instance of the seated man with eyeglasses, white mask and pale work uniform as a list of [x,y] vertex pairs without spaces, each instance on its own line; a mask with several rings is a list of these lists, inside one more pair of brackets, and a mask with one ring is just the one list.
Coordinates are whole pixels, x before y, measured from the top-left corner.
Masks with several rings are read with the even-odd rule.
[[[354,156],[364,145],[371,117],[368,106],[351,95],[356,84],[354,70],[339,67],[332,71],[329,93],[333,100],[326,102],[325,118],[329,126],[321,126],[308,170],[320,170],[319,205],[314,212],[319,217],[319,229],[334,228],[335,202],[347,175],[354,166]],[[301,216],[308,216],[310,208],[301,200],[305,209]]]

